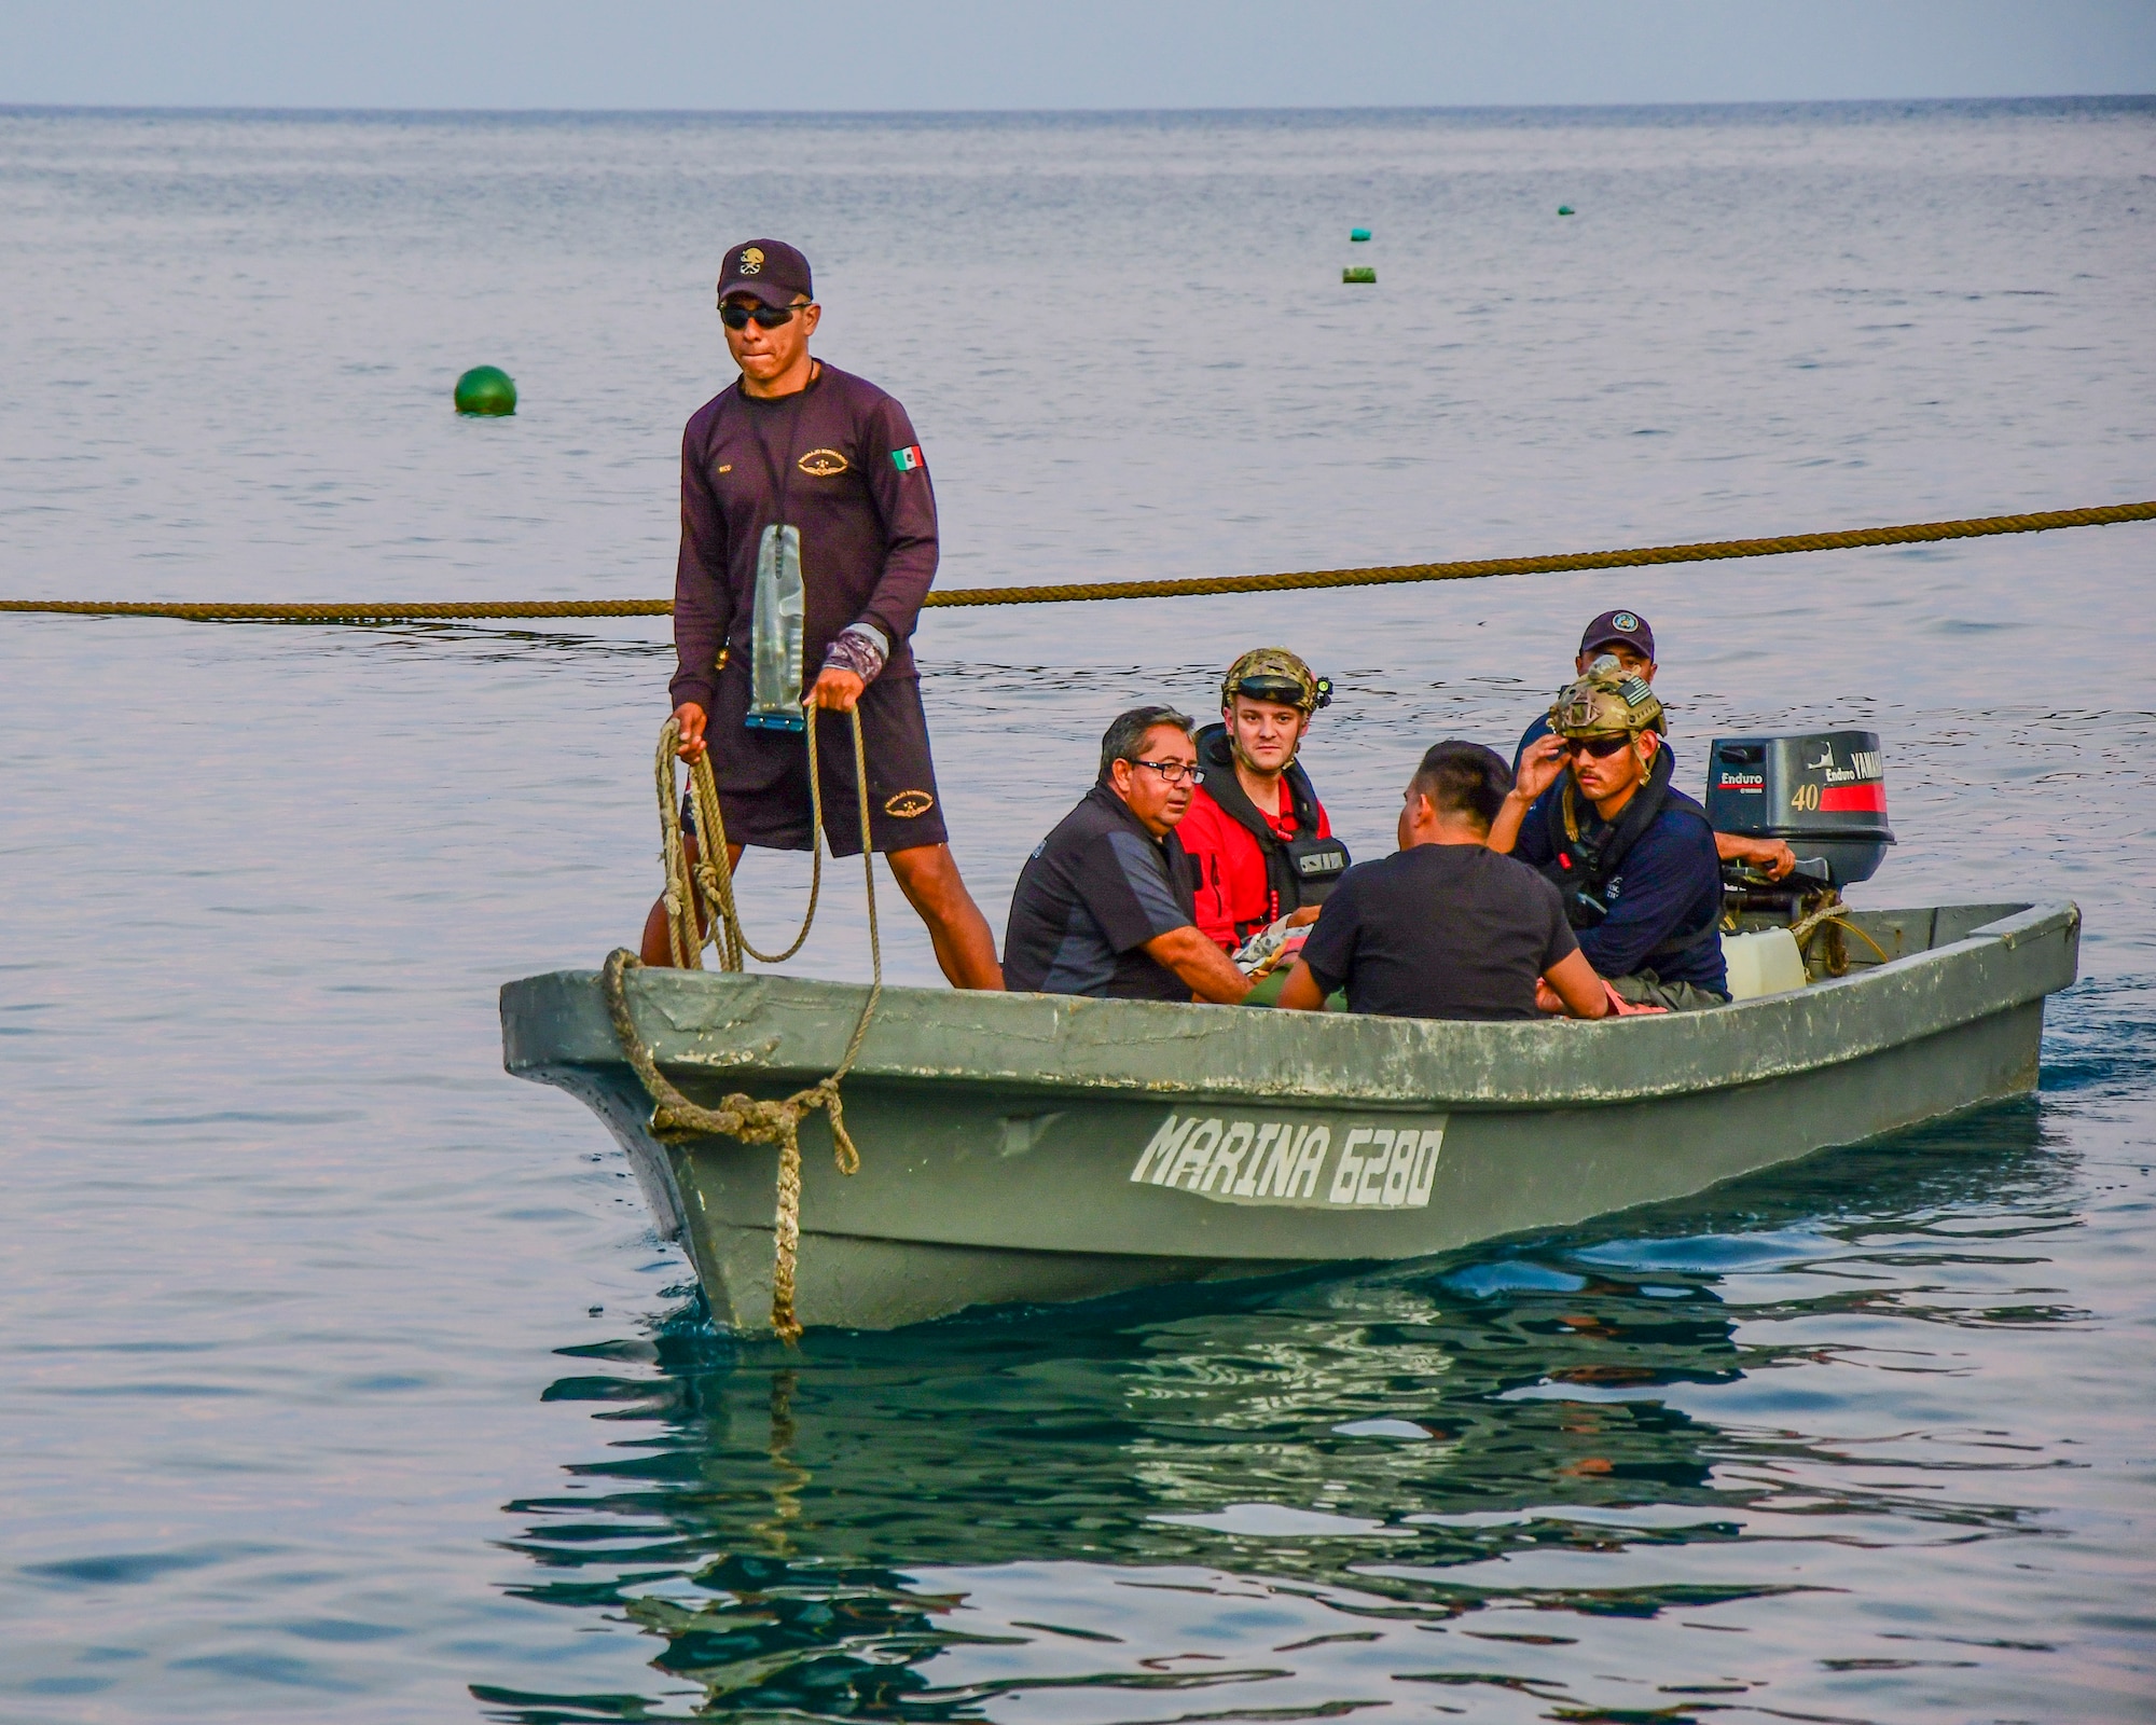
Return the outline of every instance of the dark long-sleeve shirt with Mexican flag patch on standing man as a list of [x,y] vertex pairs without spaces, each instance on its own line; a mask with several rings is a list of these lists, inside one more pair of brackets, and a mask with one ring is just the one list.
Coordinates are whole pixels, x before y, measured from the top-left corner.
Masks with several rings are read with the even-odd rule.
[[884,677],[916,677],[908,640],[936,580],[936,492],[906,410],[875,384],[819,364],[776,401],[740,384],[681,433],[681,558],[668,692],[711,712],[718,653],[748,656],[763,528],[802,535],[802,675],[847,623],[890,643]]

